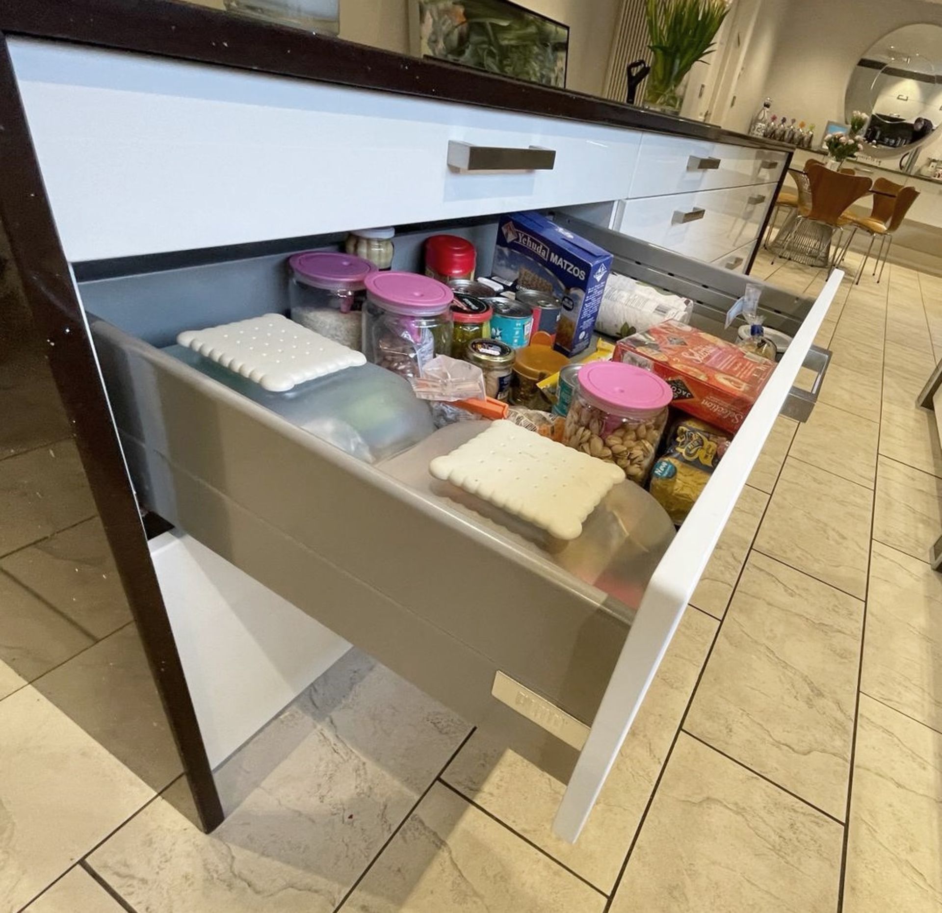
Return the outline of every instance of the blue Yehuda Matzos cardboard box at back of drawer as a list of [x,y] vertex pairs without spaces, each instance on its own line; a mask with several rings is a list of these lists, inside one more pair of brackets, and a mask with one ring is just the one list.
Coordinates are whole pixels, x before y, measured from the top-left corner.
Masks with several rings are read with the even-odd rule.
[[608,251],[538,212],[502,216],[497,226],[495,276],[512,288],[536,288],[560,299],[556,348],[564,355],[575,355],[592,341],[611,259]]

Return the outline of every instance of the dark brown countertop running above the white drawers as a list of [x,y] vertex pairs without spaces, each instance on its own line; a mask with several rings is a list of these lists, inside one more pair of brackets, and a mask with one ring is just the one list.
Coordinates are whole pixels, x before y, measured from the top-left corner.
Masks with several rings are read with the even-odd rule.
[[3,0],[0,32],[790,152],[784,143],[174,0]]

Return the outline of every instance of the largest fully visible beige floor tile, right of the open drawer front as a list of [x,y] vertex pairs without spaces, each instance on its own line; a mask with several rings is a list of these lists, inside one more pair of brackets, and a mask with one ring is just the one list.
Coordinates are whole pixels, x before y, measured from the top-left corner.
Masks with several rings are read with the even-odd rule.
[[754,552],[684,727],[843,820],[863,611]]

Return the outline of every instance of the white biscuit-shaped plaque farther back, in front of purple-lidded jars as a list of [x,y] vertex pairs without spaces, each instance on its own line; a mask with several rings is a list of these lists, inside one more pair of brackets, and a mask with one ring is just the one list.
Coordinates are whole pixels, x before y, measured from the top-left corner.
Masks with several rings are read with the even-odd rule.
[[281,314],[187,330],[177,336],[177,342],[274,393],[366,363],[363,352],[348,349]]

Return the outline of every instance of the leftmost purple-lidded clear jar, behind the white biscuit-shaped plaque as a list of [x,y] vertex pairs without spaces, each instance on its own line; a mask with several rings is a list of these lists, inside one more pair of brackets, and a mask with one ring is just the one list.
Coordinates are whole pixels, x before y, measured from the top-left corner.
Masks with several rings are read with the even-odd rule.
[[288,266],[291,319],[359,351],[364,282],[376,267],[361,257],[327,251],[296,253]]

